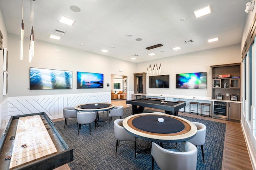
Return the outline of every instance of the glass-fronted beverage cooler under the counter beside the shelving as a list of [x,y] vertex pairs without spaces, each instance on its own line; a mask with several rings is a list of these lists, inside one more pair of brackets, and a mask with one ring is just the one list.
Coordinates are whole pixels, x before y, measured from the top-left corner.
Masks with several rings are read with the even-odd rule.
[[212,118],[228,120],[228,102],[213,101]]

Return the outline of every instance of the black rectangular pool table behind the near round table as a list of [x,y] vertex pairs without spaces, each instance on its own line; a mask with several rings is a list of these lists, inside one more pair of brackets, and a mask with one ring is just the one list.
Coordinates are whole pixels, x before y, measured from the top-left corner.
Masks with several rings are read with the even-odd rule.
[[[161,103],[165,102],[165,104]],[[178,109],[186,106],[186,103],[168,102],[154,99],[134,99],[126,100],[126,104],[132,104],[132,114],[142,113],[144,107],[164,110],[166,114],[178,116]],[[139,106],[139,107],[138,107]]]

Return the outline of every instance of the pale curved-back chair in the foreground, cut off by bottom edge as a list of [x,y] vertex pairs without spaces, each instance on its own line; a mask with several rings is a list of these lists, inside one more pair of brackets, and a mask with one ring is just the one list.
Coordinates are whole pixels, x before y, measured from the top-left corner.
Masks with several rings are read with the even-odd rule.
[[181,149],[164,149],[152,142],[152,170],[154,160],[161,170],[196,170],[197,148],[190,142],[182,142]]

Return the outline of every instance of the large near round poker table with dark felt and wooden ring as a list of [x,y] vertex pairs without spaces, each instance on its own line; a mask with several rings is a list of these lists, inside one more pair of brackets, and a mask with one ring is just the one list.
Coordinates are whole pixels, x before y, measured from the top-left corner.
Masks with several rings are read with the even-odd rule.
[[[159,122],[163,118],[164,122]],[[154,142],[182,142],[196,135],[194,123],[164,113],[140,113],[128,116],[123,121],[124,129],[135,137]]]

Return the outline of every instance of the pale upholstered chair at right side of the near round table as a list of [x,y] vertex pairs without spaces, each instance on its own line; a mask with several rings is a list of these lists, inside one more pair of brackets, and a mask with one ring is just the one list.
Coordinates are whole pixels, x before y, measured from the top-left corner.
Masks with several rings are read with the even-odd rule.
[[199,122],[192,122],[194,125],[196,125],[197,131],[196,131],[196,136],[194,136],[192,139],[188,140],[190,143],[201,146],[202,150],[202,157],[204,161],[204,143],[205,143],[205,135],[206,135],[206,126],[203,123]]

